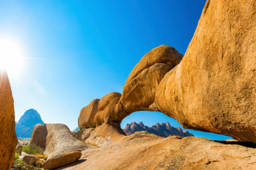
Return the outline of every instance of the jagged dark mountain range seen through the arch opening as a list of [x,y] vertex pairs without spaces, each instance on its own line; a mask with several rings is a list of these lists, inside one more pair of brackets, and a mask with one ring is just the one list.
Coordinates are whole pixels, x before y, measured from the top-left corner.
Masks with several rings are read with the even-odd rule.
[[137,124],[136,122],[132,122],[131,124],[127,123],[124,132],[126,135],[131,135],[138,131],[147,131],[153,133],[160,137],[168,137],[169,135],[179,135],[182,137],[194,137],[192,133],[189,133],[187,130],[182,131],[180,127],[174,128],[170,125],[169,122],[166,123],[157,123],[152,127],[144,126],[142,122]]

